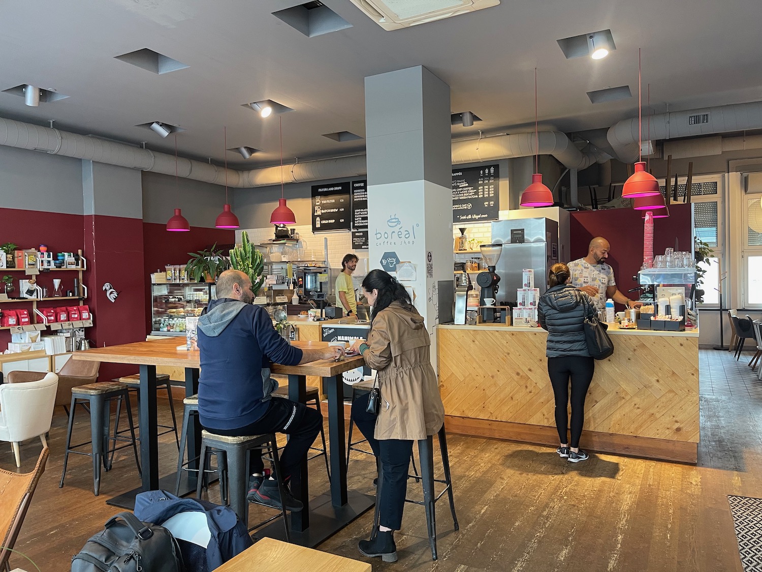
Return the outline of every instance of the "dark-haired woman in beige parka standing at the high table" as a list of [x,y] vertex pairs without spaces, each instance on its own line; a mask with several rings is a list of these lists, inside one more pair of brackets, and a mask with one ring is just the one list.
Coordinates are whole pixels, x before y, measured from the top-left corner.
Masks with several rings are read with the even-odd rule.
[[381,391],[379,414],[367,413],[368,395],[352,406],[352,418],[368,440],[380,464],[379,533],[361,540],[365,556],[397,560],[394,531],[402,526],[402,509],[408,482],[413,443],[437,433],[444,423],[437,374],[431,367],[431,339],[424,319],[411,304],[402,284],[383,270],[372,270],[363,280],[363,291],[373,307],[367,342],[352,348],[378,371]]

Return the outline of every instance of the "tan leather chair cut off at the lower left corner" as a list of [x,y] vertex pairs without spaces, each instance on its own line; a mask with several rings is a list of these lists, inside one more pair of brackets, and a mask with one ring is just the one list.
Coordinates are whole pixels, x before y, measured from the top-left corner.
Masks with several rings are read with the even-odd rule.
[[49,448],[43,448],[34,471],[30,473],[11,473],[0,469],[0,570],[10,570],[8,559],[11,558],[40,475],[45,471],[49,453]]

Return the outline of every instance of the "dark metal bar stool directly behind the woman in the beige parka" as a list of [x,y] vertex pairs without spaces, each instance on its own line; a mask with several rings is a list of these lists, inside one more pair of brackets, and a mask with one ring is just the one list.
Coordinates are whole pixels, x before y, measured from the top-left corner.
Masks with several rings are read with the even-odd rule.
[[[426,439],[420,439],[418,441],[418,457],[421,461],[421,480],[423,480],[424,487],[424,500],[410,500],[405,499],[405,503],[414,503],[423,505],[426,509],[426,528],[429,537],[429,545],[431,545],[431,559],[437,560],[437,518],[435,505],[437,500],[440,500],[444,493],[450,498],[450,513],[453,514],[453,528],[459,530],[458,519],[455,515],[455,501],[453,500],[453,480],[450,476],[450,455],[447,453],[447,435],[444,431],[444,425],[442,429],[437,433],[439,438],[439,448],[442,455],[442,468],[444,472],[443,479],[434,478],[434,440],[432,435],[428,435]],[[411,476],[411,475],[409,475]],[[445,485],[444,489],[437,495],[434,490],[434,483],[442,483]],[[376,495],[381,494],[381,488],[383,485],[383,468],[379,472],[379,484],[376,490]],[[376,496],[378,498],[378,496]],[[376,514],[373,516],[373,533],[375,537],[379,527],[379,503],[376,502]]]

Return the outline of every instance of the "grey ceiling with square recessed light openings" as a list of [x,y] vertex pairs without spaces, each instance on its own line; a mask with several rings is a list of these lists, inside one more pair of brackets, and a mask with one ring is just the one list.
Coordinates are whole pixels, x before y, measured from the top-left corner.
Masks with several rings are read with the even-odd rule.
[[[655,113],[762,100],[759,0],[503,0],[395,31],[350,0],[323,0],[351,26],[313,37],[273,15],[298,4],[5,0],[0,117],[53,120],[62,130],[174,153],[173,134],[146,127],[160,122],[181,130],[181,156],[216,163],[227,156],[229,165],[254,168],[280,161],[280,119],[286,161],[363,152],[363,78],[409,66],[426,66],[450,85],[453,113],[481,118],[453,124],[453,137],[533,130],[535,67],[540,129],[594,130],[636,116],[639,47],[643,104],[650,83]],[[567,59],[557,43],[605,30],[616,50],[604,59]],[[142,50],[158,56],[145,64]],[[117,59],[134,53],[145,65]],[[25,84],[66,98],[35,108],[23,94],[3,92]],[[627,86],[630,98],[588,97]],[[263,119],[247,105],[267,100],[293,111]],[[244,160],[239,147],[256,152]]]

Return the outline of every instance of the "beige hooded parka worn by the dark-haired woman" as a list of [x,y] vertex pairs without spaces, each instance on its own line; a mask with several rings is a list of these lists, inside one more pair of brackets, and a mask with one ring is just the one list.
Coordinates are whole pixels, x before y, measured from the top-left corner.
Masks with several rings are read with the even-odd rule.
[[444,423],[431,339],[424,319],[395,300],[373,320],[363,358],[378,371],[381,390],[376,439],[426,439]]

